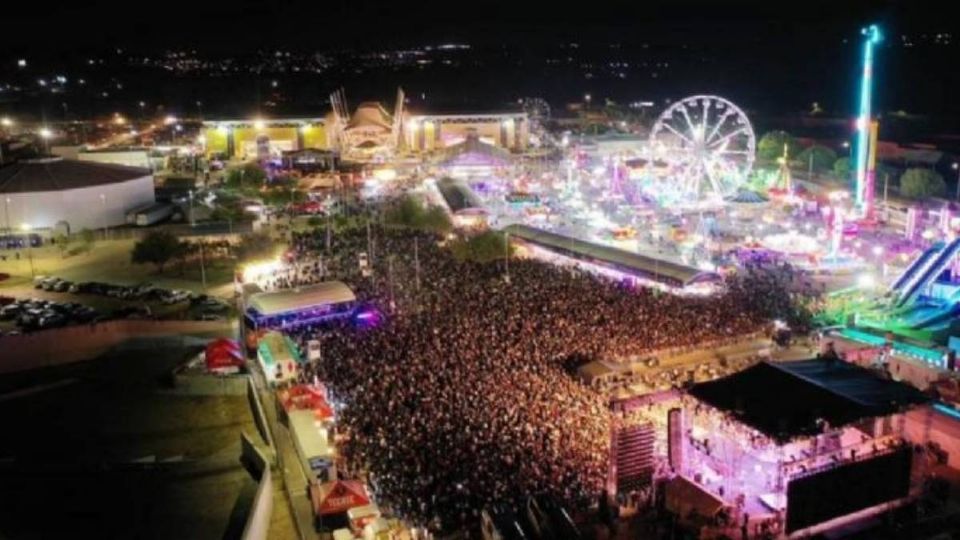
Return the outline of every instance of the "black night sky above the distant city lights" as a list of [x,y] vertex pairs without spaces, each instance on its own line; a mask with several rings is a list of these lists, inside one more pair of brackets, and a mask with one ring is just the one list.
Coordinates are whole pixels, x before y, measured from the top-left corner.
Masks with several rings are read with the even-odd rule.
[[[375,0],[163,2],[119,0],[4,6],[5,42],[13,51],[62,53],[123,46],[191,45],[206,50],[260,47],[331,48],[398,45],[425,38],[524,42],[547,39],[739,40],[776,31],[798,33],[858,27],[868,19],[935,23],[939,9],[907,1],[616,1],[523,2]],[[774,48],[757,51],[773,53]]]

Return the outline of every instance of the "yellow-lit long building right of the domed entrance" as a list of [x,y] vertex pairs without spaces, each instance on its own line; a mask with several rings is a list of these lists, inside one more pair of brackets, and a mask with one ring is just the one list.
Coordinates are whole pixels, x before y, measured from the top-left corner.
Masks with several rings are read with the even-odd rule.
[[460,144],[468,136],[484,143],[522,152],[530,145],[526,113],[414,114],[404,119],[404,143],[415,152]]

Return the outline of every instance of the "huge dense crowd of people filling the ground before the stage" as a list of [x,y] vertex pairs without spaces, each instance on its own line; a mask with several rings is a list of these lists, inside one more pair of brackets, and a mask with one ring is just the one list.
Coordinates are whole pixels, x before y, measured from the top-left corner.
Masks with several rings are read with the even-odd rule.
[[[507,282],[502,263],[458,262],[436,237],[376,229],[374,238],[391,258],[371,257],[369,278],[358,264],[366,231],[338,232],[330,253],[323,230],[291,238],[297,257],[323,254],[330,277],[387,314],[374,328],[293,337],[321,342],[313,369],[345,404],[349,466],[369,473],[394,510],[444,529],[529,494],[574,507],[595,498],[610,415],[571,365],[753,332],[769,320],[765,295],[777,286],[681,298],[520,259]],[[384,300],[394,297],[395,311]]]

